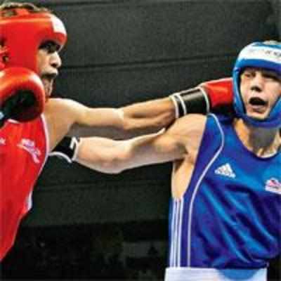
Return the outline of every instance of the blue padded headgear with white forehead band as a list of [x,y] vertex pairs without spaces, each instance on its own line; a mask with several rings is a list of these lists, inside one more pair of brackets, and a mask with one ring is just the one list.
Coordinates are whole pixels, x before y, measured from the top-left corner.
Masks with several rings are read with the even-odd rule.
[[233,69],[234,108],[238,117],[252,126],[274,128],[281,126],[281,98],[264,120],[248,117],[240,94],[240,74],[244,67],[261,67],[281,75],[281,45],[275,41],[255,42],[242,49]]

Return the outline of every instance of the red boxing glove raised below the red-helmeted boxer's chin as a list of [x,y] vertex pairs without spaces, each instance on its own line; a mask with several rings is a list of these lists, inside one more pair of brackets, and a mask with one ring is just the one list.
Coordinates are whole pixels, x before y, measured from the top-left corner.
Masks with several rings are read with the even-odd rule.
[[45,92],[40,77],[24,67],[0,72],[0,127],[7,119],[27,122],[44,110]]

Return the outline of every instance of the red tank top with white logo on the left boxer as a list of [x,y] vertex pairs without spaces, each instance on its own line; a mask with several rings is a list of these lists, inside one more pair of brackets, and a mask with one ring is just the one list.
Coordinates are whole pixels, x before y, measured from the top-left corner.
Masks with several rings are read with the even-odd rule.
[[44,117],[6,122],[0,129],[0,261],[13,246],[20,220],[48,155]]

